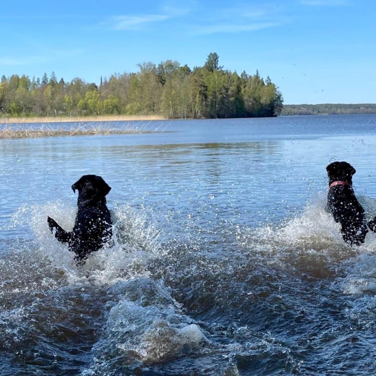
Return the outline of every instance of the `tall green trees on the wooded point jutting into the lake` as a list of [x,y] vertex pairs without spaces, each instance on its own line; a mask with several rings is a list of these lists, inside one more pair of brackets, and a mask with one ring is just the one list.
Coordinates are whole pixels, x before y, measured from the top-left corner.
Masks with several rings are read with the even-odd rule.
[[138,64],[135,73],[65,82],[54,72],[30,79],[1,77],[0,111],[9,117],[158,115],[165,118],[272,117],[281,114],[282,93],[258,71],[224,70],[213,52],[203,67],[177,61]]

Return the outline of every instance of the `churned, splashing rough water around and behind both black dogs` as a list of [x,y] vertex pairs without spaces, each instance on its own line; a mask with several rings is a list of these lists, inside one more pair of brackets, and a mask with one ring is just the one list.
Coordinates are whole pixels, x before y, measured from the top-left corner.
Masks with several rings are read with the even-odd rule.
[[[223,221],[194,233],[189,222],[183,237],[150,208],[115,204],[114,244],[81,268],[47,215],[70,229],[75,208],[21,207],[13,225],[31,235],[3,243],[0,259],[0,342],[30,365],[65,364],[83,376],[299,373],[309,341],[319,348],[334,338],[328,310],[343,326],[373,330],[376,241],[345,244],[323,195],[283,223]],[[310,338],[323,320],[327,329]],[[77,361],[72,349],[83,354]]]

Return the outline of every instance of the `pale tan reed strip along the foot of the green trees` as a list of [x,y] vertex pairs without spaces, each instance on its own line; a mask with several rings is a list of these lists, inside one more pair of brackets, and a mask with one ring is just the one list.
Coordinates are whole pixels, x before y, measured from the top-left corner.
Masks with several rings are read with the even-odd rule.
[[35,118],[0,118],[0,124],[26,123],[68,123],[68,122],[110,122],[110,121],[150,121],[166,120],[157,115],[108,115],[108,116],[73,116],[73,117],[35,117]]

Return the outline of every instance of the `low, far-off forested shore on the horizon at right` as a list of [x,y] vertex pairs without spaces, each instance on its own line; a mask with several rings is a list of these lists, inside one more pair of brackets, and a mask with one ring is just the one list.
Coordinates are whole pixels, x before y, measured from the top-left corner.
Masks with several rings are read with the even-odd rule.
[[281,115],[376,114],[376,104],[285,104]]

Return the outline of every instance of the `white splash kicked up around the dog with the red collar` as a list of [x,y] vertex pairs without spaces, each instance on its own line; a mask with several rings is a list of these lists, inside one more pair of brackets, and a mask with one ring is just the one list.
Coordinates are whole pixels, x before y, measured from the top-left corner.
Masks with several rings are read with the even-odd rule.
[[[369,220],[376,213],[376,200],[360,200]],[[345,243],[340,225],[325,209],[326,202],[323,192],[281,224],[239,228],[238,244],[260,265],[275,264],[288,273],[333,278],[343,270],[344,262],[353,262],[361,254],[373,254],[376,235],[369,232],[360,246]]]

